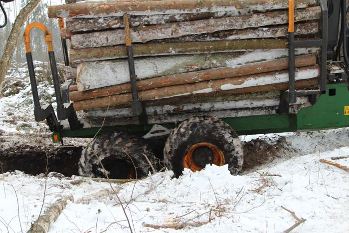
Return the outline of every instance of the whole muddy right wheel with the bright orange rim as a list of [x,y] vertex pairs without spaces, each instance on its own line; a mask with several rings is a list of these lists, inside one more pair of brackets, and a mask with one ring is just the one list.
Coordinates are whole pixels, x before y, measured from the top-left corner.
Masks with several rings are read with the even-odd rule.
[[[221,153],[221,160],[215,159],[218,153]],[[189,154],[193,166],[187,166]],[[171,132],[165,144],[164,164],[176,177],[182,174],[184,167],[195,171],[212,163],[218,166],[228,164],[232,175],[237,175],[242,169],[241,142],[227,123],[216,117],[192,117]]]

